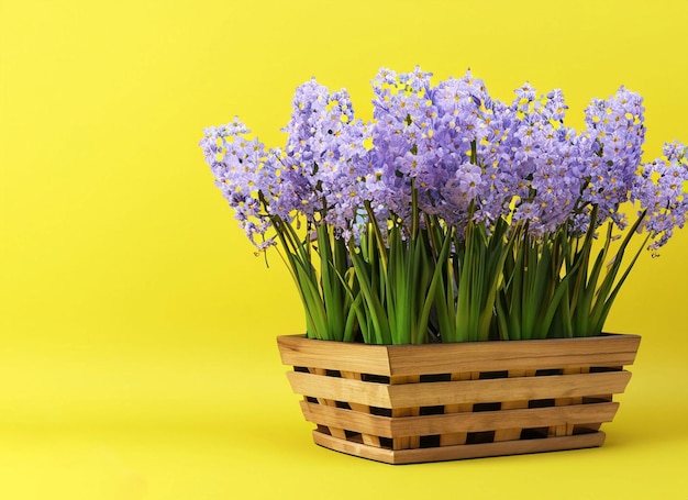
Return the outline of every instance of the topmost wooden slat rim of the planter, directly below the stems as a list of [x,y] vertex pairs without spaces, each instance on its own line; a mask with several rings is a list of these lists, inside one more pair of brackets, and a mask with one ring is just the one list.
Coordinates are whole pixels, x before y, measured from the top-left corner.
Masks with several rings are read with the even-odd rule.
[[363,345],[277,337],[282,363],[386,376],[632,365],[639,335],[432,345]]

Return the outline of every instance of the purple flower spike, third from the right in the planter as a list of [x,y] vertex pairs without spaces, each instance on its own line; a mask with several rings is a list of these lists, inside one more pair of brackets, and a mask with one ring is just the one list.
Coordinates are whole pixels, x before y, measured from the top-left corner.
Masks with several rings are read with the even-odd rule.
[[490,158],[491,212],[512,210],[513,221],[537,237],[554,232],[569,221],[580,192],[578,136],[564,125],[564,97],[559,90],[539,97],[526,82],[511,107],[493,108],[493,132],[478,149]]

